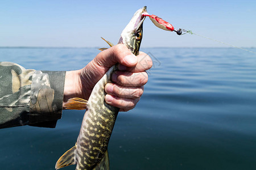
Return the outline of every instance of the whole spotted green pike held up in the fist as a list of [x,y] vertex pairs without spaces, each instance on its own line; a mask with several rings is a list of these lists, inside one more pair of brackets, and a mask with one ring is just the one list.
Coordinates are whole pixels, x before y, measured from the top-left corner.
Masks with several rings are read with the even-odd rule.
[[[147,12],[144,6],[137,10],[121,33],[118,44],[125,44],[137,56],[142,41],[143,21]],[[105,39],[104,39],[105,40]],[[106,40],[105,40],[106,41]],[[110,46],[113,44],[106,41]],[[100,50],[105,50],[102,48]],[[104,90],[117,65],[110,69],[94,86],[88,101],[72,98],[64,105],[66,109],[86,109],[79,137],[75,146],[65,152],[55,165],[56,169],[76,164],[76,169],[109,169],[108,143],[119,108],[106,104]]]

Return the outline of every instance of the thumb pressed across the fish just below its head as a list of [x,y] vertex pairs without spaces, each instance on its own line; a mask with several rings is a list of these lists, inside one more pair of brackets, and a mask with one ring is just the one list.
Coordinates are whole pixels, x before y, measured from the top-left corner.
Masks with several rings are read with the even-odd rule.
[[99,53],[94,62],[102,67],[111,67],[115,63],[121,63],[127,67],[133,67],[137,64],[137,57],[123,44],[117,44],[109,49]]

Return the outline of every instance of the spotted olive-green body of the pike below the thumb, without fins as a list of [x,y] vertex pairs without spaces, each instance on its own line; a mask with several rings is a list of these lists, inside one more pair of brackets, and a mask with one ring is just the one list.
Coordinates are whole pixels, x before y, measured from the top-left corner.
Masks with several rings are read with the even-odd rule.
[[[117,70],[117,66],[112,66],[98,81],[92,91],[93,95],[87,103],[88,110],[84,114],[77,139],[77,154],[81,157],[82,153],[92,152],[93,156],[85,154],[83,155],[84,160],[77,160],[77,163],[84,169],[90,169],[92,165],[100,162],[108,148],[109,141],[106,138],[108,139],[112,134],[119,108],[105,103],[104,87],[108,82],[111,82],[111,75],[115,70]],[[84,138],[85,135],[88,136],[89,140]]]

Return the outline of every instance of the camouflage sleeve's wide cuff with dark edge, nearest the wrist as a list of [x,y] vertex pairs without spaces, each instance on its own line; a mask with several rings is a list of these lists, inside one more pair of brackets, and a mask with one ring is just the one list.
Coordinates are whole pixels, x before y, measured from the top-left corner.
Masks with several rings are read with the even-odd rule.
[[55,128],[62,114],[64,82],[65,71],[35,71],[29,125]]

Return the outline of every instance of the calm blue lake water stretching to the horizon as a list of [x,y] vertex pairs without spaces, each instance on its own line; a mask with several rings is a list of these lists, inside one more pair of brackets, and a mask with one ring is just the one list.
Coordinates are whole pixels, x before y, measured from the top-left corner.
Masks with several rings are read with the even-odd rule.
[[[154,66],[137,107],[118,115],[110,168],[255,169],[255,54],[233,48],[141,50]],[[94,48],[1,48],[0,59],[27,69],[73,70],[97,53]],[[54,169],[75,145],[83,115],[64,111],[55,129],[1,129],[0,169]]]

